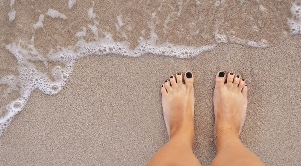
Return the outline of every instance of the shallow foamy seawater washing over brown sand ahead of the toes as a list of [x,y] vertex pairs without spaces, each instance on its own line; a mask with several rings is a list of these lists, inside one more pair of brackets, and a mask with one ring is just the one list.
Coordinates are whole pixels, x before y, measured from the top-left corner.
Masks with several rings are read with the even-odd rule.
[[301,34],[301,1],[11,0],[0,8],[0,134],[34,89],[57,94],[82,57],[190,58],[223,43],[265,48]]

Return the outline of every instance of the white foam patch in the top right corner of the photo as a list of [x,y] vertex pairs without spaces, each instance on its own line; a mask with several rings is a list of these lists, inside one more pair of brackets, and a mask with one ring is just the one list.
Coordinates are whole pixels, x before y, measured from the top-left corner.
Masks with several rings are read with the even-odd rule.
[[287,19],[290,35],[301,34],[301,1],[291,3],[290,12],[292,17]]

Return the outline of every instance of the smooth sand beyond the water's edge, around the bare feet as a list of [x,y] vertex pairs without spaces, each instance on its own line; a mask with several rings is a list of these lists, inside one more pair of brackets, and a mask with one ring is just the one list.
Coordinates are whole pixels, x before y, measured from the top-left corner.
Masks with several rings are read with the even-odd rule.
[[58,95],[32,94],[0,138],[0,164],[145,165],[168,141],[160,86],[172,74],[192,71],[194,151],[209,165],[215,157],[214,77],[222,70],[240,74],[249,86],[243,143],[267,165],[298,165],[300,52],[294,37],[267,49],[220,45],[186,60],[156,55],[81,59]]

